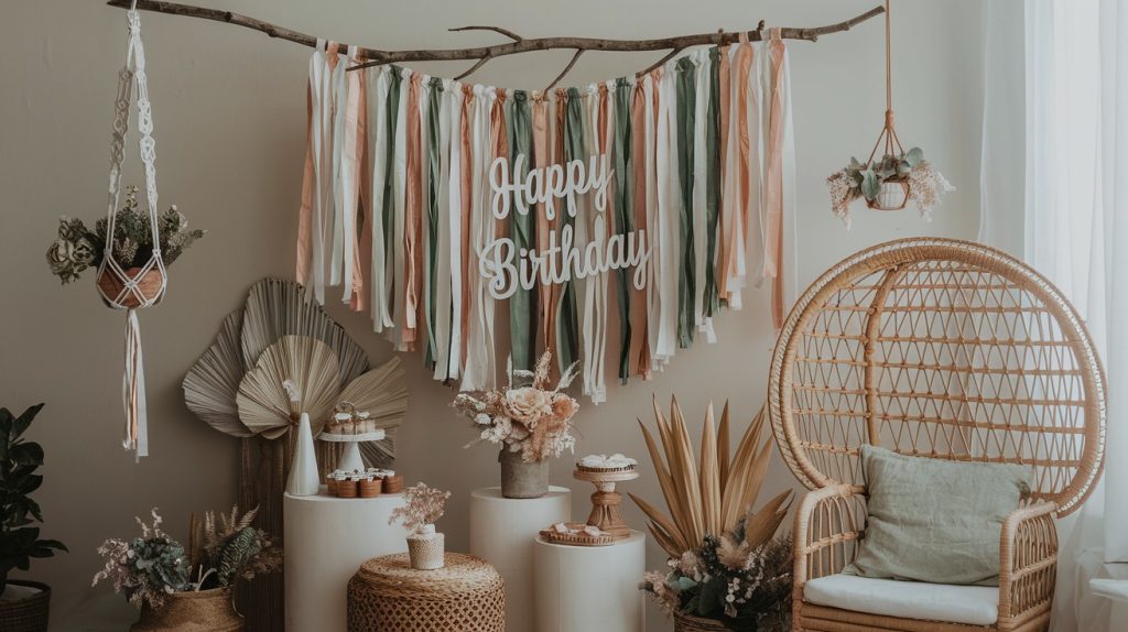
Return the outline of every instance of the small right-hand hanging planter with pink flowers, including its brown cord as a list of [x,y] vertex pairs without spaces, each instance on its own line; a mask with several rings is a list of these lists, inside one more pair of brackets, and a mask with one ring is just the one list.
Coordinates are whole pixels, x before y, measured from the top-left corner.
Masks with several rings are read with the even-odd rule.
[[[909,201],[916,203],[920,216],[932,219],[940,194],[955,190],[948,179],[927,160],[920,148],[905,151],[897,136],[893,117],[892,33],[885,0],[885,121],[865,162],[851,158],[845,169],[827,178],[830,207],[849,228],[849,205],[865,199],[874,211],[901,211]],[[878,150],[882,154],[878,157]]]

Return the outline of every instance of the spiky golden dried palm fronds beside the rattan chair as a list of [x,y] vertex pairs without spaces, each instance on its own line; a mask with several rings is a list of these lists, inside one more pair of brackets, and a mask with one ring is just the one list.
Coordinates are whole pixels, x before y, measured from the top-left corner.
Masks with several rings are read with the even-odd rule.
[[758,511],[754,510],[772,459],[770,435],[760,442],[764,409],[760,408],[744,430],[731,462],[728,402],[720,427],[714,422],[712,403],[705,412],[699,463],[695,463],[677,398],[671,399],[669,418],[662,413],[655,398],[654,418],[661,449],[641,419],[638,425],[654,462],[669,516],[633,493],[631,498],[650,518],[650,532],[659,545],[671,558],[677,558],[699,546],[706,535],[721,536],[738,532],[739,527],[740,536],[732,542],[735,557],[741,546],[751,550],[772,540],[787,515],[792,492],[784,491]]

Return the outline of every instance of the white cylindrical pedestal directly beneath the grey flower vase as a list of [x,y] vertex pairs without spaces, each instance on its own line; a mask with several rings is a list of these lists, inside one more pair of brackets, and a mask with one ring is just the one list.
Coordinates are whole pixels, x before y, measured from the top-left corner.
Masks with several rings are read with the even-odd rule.
[[505,580],[509,630],[532,630],[532,540],[571,513],[572,491],[563,487],[553,486],[540,498],[505,498],[499,487],[470,492],[470,553],[493,564]]

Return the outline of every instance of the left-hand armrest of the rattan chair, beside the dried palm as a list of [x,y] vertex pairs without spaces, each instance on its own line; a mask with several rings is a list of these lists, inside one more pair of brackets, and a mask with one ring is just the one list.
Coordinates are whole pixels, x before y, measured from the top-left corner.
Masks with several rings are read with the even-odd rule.
[[808,492],[795,513],[796,597],[809,579],[835,575],[854,561],[865,531],[865,495],[855,486],[829,486]]

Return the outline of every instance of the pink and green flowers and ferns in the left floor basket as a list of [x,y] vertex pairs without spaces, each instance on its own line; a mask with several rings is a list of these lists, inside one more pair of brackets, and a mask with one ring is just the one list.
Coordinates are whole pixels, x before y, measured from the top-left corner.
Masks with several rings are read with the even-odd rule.
[[233,507],[218,519],[211,511],[204,514],[203,523],[193,518],[192,551],[186,551],[161,528],[164,519],[153,508],[151,524],[136,518],[140,537],[111,538],[98,548],[106,564],[94,576],[92,585],[108,581],[115,593],[124,593],[131,604],[142,608],[142,618],[185,593],[211,591],[219,604],[229,604],[230,587],[237,580],[282,568],[281,546],[250,526],[256,514],[254,509],[240,516]]

